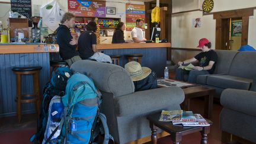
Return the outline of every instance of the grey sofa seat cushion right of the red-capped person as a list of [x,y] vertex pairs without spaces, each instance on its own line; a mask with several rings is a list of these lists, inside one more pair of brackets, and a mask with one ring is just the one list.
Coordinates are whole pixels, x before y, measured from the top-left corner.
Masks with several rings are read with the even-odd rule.
[[248,90],[252,79],[241,78],[231,75],[213,75],[207,76],[207,85],[212,85],[219,88],[235,88]]

